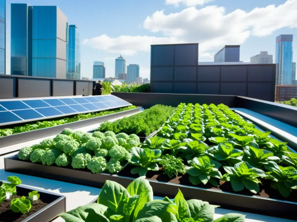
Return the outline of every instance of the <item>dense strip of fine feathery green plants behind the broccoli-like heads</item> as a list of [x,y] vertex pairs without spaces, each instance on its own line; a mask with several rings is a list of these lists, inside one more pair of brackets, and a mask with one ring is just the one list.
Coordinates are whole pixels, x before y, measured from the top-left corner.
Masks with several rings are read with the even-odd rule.
[[171,106],[154,105],[143,112],[124,117],[113,122],[104,122],[98,128],[100,132],[127,133],[148,136],[160,128],[174,112]]

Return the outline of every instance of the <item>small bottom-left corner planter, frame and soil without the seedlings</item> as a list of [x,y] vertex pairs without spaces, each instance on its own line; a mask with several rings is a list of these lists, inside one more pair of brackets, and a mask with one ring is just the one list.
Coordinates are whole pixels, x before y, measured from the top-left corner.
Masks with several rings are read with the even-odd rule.
[[[56,218],[60,213],[66,212],[66,197],[46,190],[34,189],[26,185],[17,185],[18,196],[28,196],[28,193],[32,190],[38,191],[40,194],[40,200],[37,200],[36,204],[32,204],[32,207],[28,213],[14,213],[11,210],[7,210],[1,213],[0,209],[0,221],[12,222],[48,222]],[[3,202],[2,202],[3,203]]]

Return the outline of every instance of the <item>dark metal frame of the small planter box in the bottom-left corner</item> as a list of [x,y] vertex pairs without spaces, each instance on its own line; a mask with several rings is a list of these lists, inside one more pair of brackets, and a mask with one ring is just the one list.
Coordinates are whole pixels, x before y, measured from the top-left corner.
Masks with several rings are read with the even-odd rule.
[[23,184],[17,185],[18,196],[28,196],[28,193],[32,190],[38,191],[40,200],[44,203],[48,203],[48,205],[30,215],[22,222],[48,222],[58,217],[59,214],[66,212],[65,196],[42,189],[32,188]]

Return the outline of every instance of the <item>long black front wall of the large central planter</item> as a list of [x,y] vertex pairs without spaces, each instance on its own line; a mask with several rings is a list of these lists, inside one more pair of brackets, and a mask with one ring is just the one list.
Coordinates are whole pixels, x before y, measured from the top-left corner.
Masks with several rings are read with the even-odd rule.
[[[81,170],[25,162],[19,160],[17,155],[5,158],[4,166],[6,171],[13,173],[26,174],[97,188],[102,188],[106,180],[115,181],[122,186],[127,187],[135,179],[106,173],[93,174],[91,172]],[[214,189],[204,189],[153,180],[149,180],[149,182],[153,188],[154,196],[168,196],[169,198],[174,198],[178,193],[178,189],[180,189],[187,200],[199,199],[214,205],[220,205],[222,208],[228,210],[237,210],[246,213],[256,213],[293,220],[296,219],[296,202],[246,196]],[[276,192],[278,191],[276,190]]]

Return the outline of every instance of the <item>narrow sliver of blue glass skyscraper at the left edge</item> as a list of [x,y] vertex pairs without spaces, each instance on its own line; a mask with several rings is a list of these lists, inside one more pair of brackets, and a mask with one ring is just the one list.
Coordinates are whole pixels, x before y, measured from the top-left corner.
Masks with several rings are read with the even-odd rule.
[[0,74],[5,74],[5,0],[0,0]]

